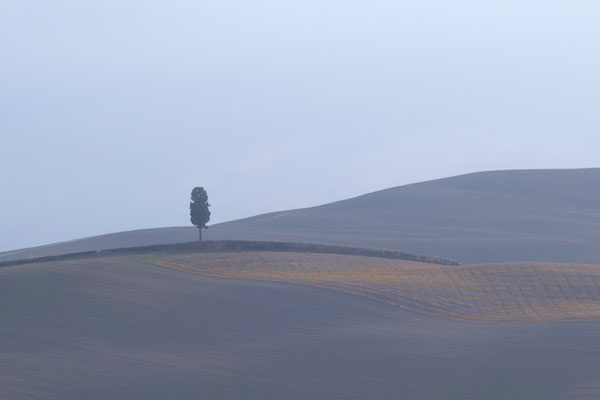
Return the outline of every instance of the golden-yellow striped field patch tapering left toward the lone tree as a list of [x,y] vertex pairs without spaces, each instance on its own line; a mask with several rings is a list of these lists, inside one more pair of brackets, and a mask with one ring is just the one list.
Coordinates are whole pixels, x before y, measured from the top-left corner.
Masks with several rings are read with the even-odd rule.
[[600,320],[600,266],[440,266],[311,253],[152,255],[145,262],[217,278],[304,284],[422,314],[481,322]]

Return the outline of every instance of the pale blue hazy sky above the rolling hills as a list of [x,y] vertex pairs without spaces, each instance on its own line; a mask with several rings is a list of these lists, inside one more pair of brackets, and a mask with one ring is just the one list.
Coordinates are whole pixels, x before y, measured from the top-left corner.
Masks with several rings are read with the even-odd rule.
[[0,250],[599,165],[600,2],[0,0]]

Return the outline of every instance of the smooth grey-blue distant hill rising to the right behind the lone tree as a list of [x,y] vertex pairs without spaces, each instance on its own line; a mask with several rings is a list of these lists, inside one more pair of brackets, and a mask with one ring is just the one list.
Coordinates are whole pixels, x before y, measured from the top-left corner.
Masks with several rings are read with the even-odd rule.
[[[195,237],[193,227],[121,232],[0,253],[0,260]],[[217,224],[206,237],[392,249],[472,263],[600,263],[600,168],[438,179]]]

